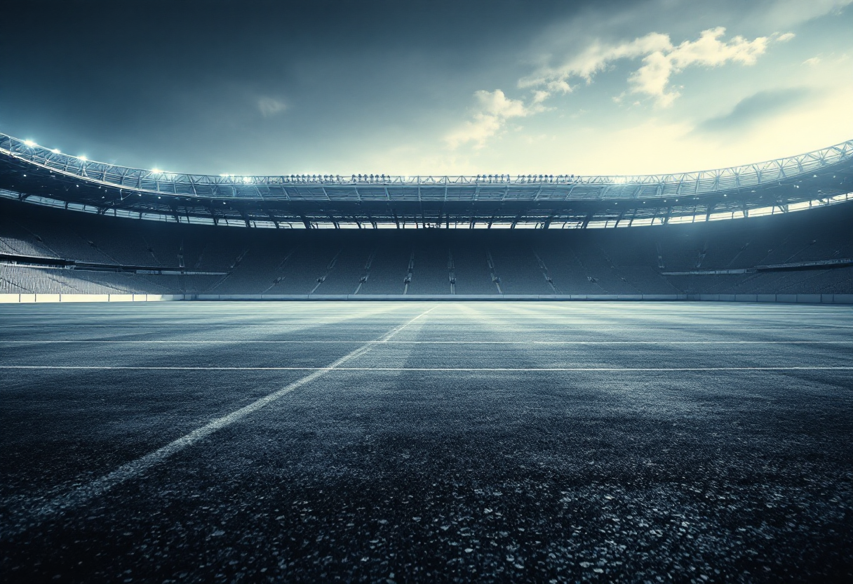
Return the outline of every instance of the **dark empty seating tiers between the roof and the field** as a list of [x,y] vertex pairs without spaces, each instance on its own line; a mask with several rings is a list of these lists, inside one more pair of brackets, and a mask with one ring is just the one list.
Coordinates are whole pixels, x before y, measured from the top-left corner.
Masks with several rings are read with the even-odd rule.
[[[0,201],[0,293],[849,295],[853,205],[608,230],[240,230]],[[223,237],[226,235],[227,237]]]

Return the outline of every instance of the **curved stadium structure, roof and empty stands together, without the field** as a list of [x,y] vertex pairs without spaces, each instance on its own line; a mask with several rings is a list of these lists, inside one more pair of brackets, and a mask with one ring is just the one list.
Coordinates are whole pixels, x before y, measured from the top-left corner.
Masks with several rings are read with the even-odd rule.
[[0,295],[846,302],[851,193],[853,141],[671,175],[233,176],[0,134]]

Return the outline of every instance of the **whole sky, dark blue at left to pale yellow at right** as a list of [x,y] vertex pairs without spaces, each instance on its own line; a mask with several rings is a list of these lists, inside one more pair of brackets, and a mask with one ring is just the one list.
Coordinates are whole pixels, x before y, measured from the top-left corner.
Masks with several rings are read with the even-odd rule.
[[853,0],[28,0],[0,51],[0,131],[168,172],[687,172],[853,138]]

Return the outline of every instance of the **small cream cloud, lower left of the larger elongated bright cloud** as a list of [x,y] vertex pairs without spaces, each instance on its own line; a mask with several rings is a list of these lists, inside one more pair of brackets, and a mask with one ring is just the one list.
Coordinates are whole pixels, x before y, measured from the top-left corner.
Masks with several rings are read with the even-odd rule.
[[474,148],[485,146],[486,140],[501,131],[511,118],[525,118],[545,110],[541,102],[548,97],[547,91],[536,91],[531,105],[525,105],[518,99],[511,99],[503,91],[476,91],[474,97],[478,103],[478,111],[473,114],[473,120],[468,120],[460,128],[450,132],[444,141],[451,149],[461,144],[473,142]]

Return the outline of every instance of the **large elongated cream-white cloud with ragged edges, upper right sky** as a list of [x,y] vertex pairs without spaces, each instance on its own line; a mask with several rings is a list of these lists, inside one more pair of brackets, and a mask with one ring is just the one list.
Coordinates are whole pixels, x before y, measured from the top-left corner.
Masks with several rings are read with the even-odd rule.
[[595,40],[562,65],[542,67],[537,73],[519,79],[519,87],[544,87],[554,93],[568,93],[574,89],[572,79],[583,79],[589,85],[596,73],[613,67],[615,61],[642,58],[642,66],[628,78],[630,92],[653,97],[660,106],[666,107],[680,95],[670,90],[670,79],[686,67],[719,67],[728,62],[754,65],[771,41],[782,42],[794,36],[786,32],[752,40],[737,36],[726,41],[722,39],[725,33],[723,26],[709,28],[702,31],[697,40],[684,41],[677,46],[670,41],[670,35],[659,32],[618,44],[602,44]]

